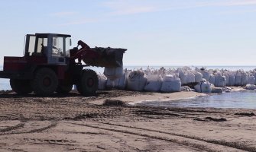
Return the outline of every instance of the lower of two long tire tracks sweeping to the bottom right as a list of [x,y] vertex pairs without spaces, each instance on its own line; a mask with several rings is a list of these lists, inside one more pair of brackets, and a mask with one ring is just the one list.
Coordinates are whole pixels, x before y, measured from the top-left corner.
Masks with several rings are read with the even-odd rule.
[[73,123],[73,122],[65,122],[65,123],[85,126],[89,128],[98,128],[105,131],[120,132],[124,134],[129,134],[129,135],[138,135],[144,138],[154,138],[157,140],[169,141],[172,143],[182,144],[184,146],[193,147],[198,150],[206,150],[209,152],[245,151],[235,147],[228,147],[222,144],[215,144],[208,141],[198,140],[196,138],[189,138],[185,136],[183,137],[182,135],[174,135],[164,131],[155,131],[155,130],[145,129],[145,128],[135,128],[135,127],[125,126],[125,125],[115,125],[115,124],[109,124],[109,123],[96,123],[96,122],[95,123],[92,122],[94,125],[79,124],[79,123]]

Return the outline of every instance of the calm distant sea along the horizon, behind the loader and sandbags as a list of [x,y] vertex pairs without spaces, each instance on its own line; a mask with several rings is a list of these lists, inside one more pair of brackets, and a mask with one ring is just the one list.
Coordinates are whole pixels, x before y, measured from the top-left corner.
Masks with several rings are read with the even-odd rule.
[[[147,69],[147,68],[154,68],[154,69],[160,69],[162,67],[164,68],[182,68],[184,65],[179,65],[179,66],[125,66],[124,68],[131,69],[131,70],[136,70],[136,69]],[[243,69],[245,71],[250,71],[256,68],[256,65],[238,65],[238,66],[219,66],[219,65],[209,65],[209,66],[202,66],[202,65],[196,65],[196,66],[189,66],[190,68],[202,68],[205,67],[207,69],[227,69],[231,71],[235,71],[238,69]],[[91,67],[92,70],[96,71],[98,74],[103,74],[104,68],[98,68],[98,67]],[[2,70],[2,65],[0,65],[0,70]],[[2,79],[0,78],[0,90],[11,90],[11,87],[9,85],[9,80],[8,79]]]

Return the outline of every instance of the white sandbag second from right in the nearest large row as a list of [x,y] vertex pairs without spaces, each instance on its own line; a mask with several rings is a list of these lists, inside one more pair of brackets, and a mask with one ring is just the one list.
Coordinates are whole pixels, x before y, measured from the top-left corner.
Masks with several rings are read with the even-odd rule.
[[160,87],[163,82],[163,78],[159,74],[149,74],[146,76],[147,83],[144,87],[144,90],[151,91],[151,92],[157,92],[160,90]]

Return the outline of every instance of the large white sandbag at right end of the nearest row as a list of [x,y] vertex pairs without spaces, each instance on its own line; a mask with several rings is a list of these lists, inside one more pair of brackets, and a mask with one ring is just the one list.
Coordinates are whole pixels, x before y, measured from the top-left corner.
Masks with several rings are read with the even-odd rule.
[[172,93],[172,92],[180,92],[181,90],[181,81],[175,75],[166,75],[164,76],[164,81],[160,91],[165,93]]

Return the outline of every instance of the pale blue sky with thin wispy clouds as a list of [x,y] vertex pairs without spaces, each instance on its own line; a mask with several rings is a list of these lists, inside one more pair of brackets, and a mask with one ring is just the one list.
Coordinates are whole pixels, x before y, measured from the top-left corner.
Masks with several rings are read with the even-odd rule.
[[0,65],[28,33],[125,48],[124,65],[256,65],[256,0],[0,2]]

